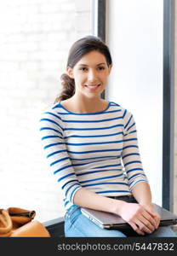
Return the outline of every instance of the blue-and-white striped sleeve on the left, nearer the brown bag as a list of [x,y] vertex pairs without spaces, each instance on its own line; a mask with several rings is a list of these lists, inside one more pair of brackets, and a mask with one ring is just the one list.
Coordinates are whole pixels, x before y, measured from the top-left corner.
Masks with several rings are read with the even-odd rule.
[[66,202],[73,203],[74,195],[81,189],[81,185],[67,153],[62,119],[54,110],[45,112],[39,121],[39,130],[50,169],[66,197]]

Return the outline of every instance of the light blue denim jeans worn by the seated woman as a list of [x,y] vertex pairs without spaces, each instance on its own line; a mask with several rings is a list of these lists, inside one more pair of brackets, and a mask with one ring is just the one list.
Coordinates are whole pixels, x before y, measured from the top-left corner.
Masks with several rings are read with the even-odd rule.
[[[124,201],[134,202],[134,199],[124,197]],[[81,208],[72,206],[65,216],[65,235],[66,237],[127,237],[140,236],[134,230],[106,230],[101,229],[90,219],[85,217],[81,212]],[[147,237],[176,237],[170,226],[159,227]]]

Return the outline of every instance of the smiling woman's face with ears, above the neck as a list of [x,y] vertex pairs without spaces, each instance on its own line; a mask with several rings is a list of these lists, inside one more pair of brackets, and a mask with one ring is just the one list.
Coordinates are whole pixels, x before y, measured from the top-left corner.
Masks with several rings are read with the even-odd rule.
[[67,68],[68,75],[75,80],[75,93],[87,97],[98,97],[106,88],[106,81],[111,71],[105,55],[93,50]]

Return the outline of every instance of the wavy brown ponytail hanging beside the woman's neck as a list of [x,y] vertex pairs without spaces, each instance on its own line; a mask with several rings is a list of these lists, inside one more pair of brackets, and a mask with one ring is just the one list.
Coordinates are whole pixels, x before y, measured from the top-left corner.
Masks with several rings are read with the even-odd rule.
[[54,104],[60,101],[65,101],[75,93],[75,82],[74,79],[71,79],[66,73],[63,73],[60,76],[62,90],[60,95],[55,98]]

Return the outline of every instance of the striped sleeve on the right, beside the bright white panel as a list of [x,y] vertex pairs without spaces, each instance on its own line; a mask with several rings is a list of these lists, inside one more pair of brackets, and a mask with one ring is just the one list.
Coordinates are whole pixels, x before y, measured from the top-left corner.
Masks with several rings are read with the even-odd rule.
[[126,109],[123,111],[123,126],[123,166],[128,176],[129,189],[132,190],[137,183],[148,181],[140,160],[134,116]]

